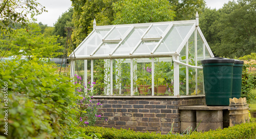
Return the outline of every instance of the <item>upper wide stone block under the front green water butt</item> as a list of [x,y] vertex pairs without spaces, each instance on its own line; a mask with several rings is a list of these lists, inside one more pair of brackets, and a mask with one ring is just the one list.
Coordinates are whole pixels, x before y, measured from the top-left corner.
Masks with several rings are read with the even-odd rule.
[[197,122],[199,123],[200,121],[203,123],[222,122],[222,110],[197,110]]

